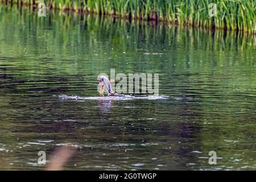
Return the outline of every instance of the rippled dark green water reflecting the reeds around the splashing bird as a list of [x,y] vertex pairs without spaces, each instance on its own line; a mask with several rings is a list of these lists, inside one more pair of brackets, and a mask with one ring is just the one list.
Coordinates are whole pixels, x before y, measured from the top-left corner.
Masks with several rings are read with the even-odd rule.
[[[256,168],[256,45],[251,35],[0,6],[0,169]],[[123,53],[125,52],[125,53]],[[159,73],[167,100],[98,96],[97,75]],[[209,151],[217,164],[208,163]]]

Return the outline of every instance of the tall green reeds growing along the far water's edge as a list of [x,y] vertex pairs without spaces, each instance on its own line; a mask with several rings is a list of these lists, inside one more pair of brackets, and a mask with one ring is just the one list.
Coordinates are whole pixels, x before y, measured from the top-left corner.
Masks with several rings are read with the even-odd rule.
[[[35,0],[3,0],[7,4],[37,6]],[[43,2],[43,1],[40,1]],[[48,0],[50,9],[156,20],[197,27],[225,28],[256,33],[254,0]],[[216,16],[209,17],[210,3],[216,3]]]

